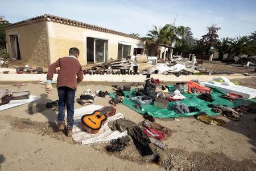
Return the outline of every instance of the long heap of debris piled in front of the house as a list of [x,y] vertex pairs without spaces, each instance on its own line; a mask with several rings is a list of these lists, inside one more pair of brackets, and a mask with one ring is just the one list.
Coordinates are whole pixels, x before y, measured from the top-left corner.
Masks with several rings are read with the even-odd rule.
[[[84,74],[114,74],[114,75],[136,75],[136,74],[164,74],[164,75],[192,75],[207,72],[203,67],[196,63],[195,56],[193,61],[177,56],[173,62],[168,58],[147,57],[146,55],[128,56],[126,59],[110,58],[105,63],[93,66],[91,69],[84,70]],[[202,62],[202,61],[201,61]],[[199,67],[199,68],[197,68]],[[209,71],[208,71],[209,72]]]

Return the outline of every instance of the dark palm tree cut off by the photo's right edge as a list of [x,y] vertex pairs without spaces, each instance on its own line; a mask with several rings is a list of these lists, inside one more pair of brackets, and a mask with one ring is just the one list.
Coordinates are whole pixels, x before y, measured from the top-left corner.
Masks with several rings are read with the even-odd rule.
[[255,41],[249,36],[237,36],[230,43],[230,54],[240,57],[242,54],[252,55],[256,53]]

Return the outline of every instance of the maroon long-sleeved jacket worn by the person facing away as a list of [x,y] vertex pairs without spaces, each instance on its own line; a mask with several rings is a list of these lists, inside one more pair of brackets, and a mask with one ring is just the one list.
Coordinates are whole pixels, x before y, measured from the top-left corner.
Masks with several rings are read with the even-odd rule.
[[57,59],[56,62],[49,66],[47,80],[52,80],[57,67],[60,67],[57,88],[65,86],[76,89],[77,84],[84,78],[79,61],[73,57],[63,57]]

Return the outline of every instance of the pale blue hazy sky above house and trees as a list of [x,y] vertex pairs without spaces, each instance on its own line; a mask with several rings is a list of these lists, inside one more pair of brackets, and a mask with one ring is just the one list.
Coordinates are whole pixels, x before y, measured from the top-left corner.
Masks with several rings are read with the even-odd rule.
[[250,35],[256,31],[255,0],[0,0],[0,15],[10,23],[43,14],[61,16],[124,33],[146,36],[153,25],[191,27],[200,39],[207,27],[221,27],[219,37]]

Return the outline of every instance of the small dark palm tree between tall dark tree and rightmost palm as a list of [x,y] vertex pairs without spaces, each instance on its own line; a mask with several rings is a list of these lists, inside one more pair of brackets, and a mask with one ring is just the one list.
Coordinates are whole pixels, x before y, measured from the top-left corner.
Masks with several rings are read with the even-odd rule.
[[223,37],[220,40],[217,40],[215,44],[213,44],[213,49],[218,52],[218,59],[222,60],[223,55],[230,52],[230,43],[232,39],[229,37]]

